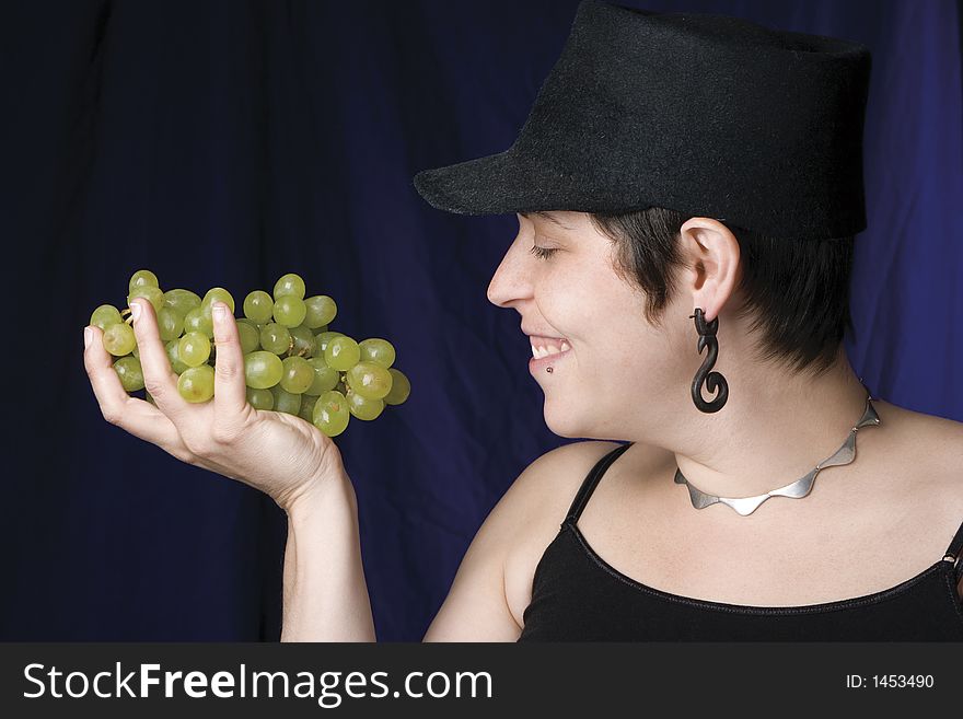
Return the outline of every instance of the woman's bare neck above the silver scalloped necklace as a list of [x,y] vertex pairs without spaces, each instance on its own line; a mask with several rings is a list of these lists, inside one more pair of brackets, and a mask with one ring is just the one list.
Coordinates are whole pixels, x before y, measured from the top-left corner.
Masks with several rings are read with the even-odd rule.
[[720,497],[762,495],[802,477],[839,449],[866,410],[866,389],[842,350],[820,378],[784,370],[727,380],[726,406],[707,416],[689,399],[693,421],[665,443],[691,484]]

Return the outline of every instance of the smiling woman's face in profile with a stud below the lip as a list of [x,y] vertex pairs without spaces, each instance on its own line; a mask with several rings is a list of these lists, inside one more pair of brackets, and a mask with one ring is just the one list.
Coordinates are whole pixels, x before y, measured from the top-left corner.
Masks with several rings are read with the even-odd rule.
[[[560,437],[639,436],[658,420],[664,387],[687,396],[692,375],[680,385],[687,369],[671,358],[680,357],[673,346],[692,312],[670,305],[665,329],[649,324],[642,291],[616,274],[614,251],[584,212],[520,214],[519,233],[488,287],[490,302],[521,315],[533,347],[530,371],[545,392],[545,421]],[[671,322],[674,309],[680,323]]]

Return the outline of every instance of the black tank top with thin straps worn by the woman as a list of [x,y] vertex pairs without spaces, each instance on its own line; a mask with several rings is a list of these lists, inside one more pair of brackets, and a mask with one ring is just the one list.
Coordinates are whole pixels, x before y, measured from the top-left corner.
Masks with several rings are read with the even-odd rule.
[[535,569],[519,641],[963,641],[963,524],[945,555],[880,592],[802,606],[743,606],[670,594],[626,577],[577,521],[608,466],[589,472]]

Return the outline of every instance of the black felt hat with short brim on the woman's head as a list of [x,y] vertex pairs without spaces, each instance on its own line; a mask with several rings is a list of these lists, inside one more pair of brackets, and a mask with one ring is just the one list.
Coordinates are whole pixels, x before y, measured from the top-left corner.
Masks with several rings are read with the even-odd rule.
[[587,0],[514,144],[415,186],[461,214],[655,206],[784,239],[852,235],[869,77],[858,43]]

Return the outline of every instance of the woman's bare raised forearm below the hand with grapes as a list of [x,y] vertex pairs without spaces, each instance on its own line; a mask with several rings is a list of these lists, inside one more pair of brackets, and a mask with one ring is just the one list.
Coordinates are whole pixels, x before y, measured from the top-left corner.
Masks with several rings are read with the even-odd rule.
[[374,641],[358,507],[347,475],[288,514],[281,641]]

